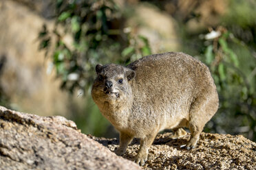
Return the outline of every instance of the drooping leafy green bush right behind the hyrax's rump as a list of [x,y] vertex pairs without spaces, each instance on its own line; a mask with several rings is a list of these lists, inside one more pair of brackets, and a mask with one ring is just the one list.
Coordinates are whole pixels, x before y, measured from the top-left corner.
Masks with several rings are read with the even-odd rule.
[[219,32],[220,36],[204,42],[205,49],[201,56],[211,69],[220,97],[218,114],[210,121],[208,124],[210,128],[207,130],[244,134],[248,138],[255,139],[256,58],[253,57],[254,51],[235,38],[226,28],[217,27],[216,32]]

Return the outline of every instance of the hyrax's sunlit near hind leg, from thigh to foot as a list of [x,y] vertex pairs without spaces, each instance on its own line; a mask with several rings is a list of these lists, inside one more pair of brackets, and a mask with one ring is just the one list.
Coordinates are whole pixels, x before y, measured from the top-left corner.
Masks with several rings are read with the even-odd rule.
[[195,99],[189,110],[189,130],[191,137],[185,147],[186,149],[195,148],[204,125],[213,117],[218,107],[217,93],[203,95]]

